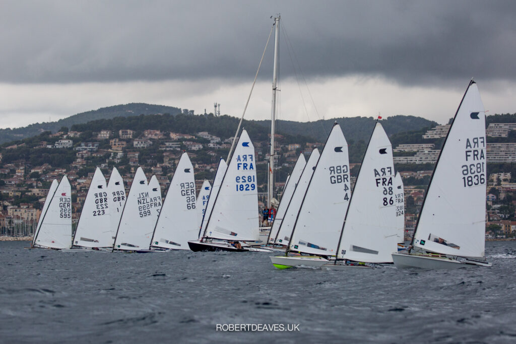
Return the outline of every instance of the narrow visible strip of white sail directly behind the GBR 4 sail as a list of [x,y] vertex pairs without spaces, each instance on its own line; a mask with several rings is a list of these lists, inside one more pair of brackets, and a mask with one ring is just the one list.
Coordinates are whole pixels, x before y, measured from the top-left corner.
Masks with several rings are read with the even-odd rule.
[[299,182],[297,183],[296,189],[294,190],[294,194],[292,195],[290,203],[288,203],[287,209],[285,211],[285,216],[283,216],[283,220],[281,221],[280,227],[278,229],[278,235],[276,237],[277,244],[285,246],[288,245],[288,242],[292,235],[292,228],[294,228],[294,223],[296,222],[299,208],[301,207],[304,194],[307,191],[308,185],[310,184],[310,179],[312,178],[312,174],[314,173],[315,165],[317,165],[317,160],[319,160],[319,156],[319,150],[317,148],[314,148],[314,150],[310,154],[310,157],[308,158],[307,164],[304,166],[303,172],[301,173],[301,177],[299,177]]

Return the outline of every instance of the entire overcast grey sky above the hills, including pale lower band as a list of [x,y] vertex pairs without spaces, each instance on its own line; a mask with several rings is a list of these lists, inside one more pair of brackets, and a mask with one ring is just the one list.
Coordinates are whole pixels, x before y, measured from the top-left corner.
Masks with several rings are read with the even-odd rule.
[[[0,127],[145,102],[239,117],[281,13],[279,118],[516,112],[514,1],[23,1],[0,11]],[[273,37],[246,113],[270,118]]]

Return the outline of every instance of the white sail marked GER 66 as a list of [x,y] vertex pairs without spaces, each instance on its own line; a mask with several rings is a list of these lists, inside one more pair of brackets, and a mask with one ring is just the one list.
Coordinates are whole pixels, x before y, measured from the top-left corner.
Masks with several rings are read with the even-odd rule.
[[196,202],[193,166],[188,154],[183,153],[163,202],[151,246],[189,250],[188,240],[196,240],[199,235]]

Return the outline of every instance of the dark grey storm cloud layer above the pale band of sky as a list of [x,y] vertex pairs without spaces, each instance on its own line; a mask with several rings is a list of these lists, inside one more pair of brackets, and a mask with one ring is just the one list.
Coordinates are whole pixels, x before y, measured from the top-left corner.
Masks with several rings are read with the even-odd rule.
[[0,82],[249,80],[277,12],[283,77],[516,79],[513,1],[9,1]]

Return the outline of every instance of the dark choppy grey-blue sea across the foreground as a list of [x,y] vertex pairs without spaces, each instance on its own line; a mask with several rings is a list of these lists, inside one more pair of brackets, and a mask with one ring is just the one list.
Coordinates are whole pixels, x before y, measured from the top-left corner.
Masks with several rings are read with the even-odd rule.
[[28,244],[0,242],[2,343],[516,342],[514,241],[486,243],[491,268],[451,271],[278,270],[267,253]]

